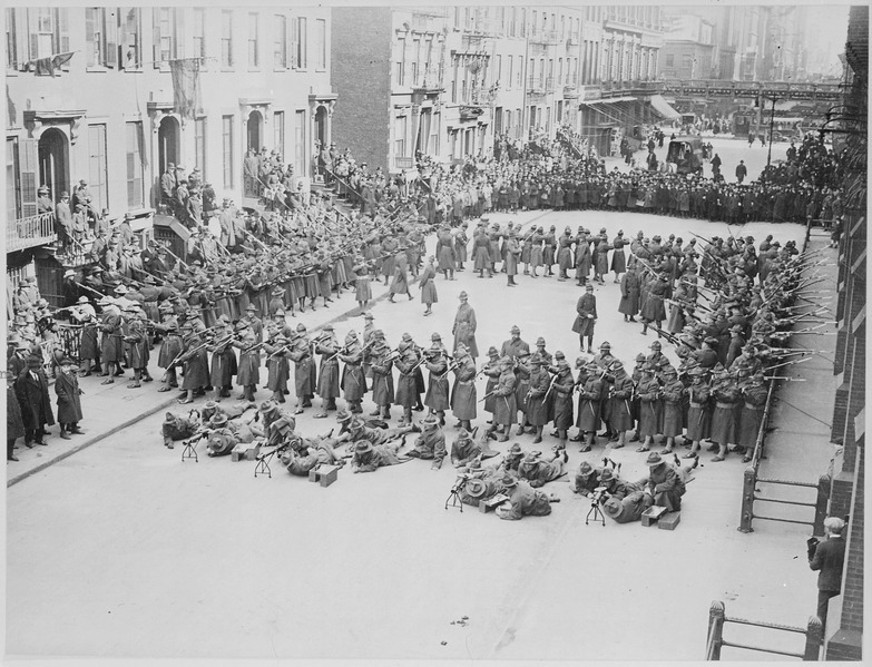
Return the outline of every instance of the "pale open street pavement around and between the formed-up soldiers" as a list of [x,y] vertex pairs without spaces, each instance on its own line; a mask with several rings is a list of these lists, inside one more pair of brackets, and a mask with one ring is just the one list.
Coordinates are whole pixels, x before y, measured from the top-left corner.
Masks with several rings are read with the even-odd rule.
[[[553,224],[558,232],[606,227],[610,237],[618,228],[627,236],[644,229],[685,238],[692,230],[727,232],[724,224],[641,214],[492,216],[509,219],[546,229]],[[801,244],[804,229],[756,223],[742,233]],[[433,239],[428,243],[432,248]],[[835,251],[824,256],[834,264]],[[424,344],[435,331],[450,345],[457,296],[466,290],[482,352],[518,324],[526,341],[542,335],[549,351],[562,350],[570,361],[578,355],[570,326],[581,290],[574,281],[520,275],[519,286],[508,288],[502,274],[458,276],[438,278],[430,317],[422,316],[417,285],[414,301],[376,298],[375,324],[389,343],[409,332]],[[384,290],[374,285],[375,296]],[[608,340],[616,356],[630,361],[656,337],[623,322],[618,292],[611,277],[596,287],[595,345]],[[340,340],[349,328],[362,330],[352,294],[331,305],[297,318],[312,331],[335,317]],[[833,336],[823,340],[834,346]],[[810,372],[803,366],[811,364],[796,372]],[[832,384],[832,367],[814,372]],[[373,474],[345,469],[326,489],[292,478],[277,462],[272,479],[255,479],[253,462],[208,459],[202,448],[199,462],[183,462],[182,449],[167,450],[159,438],[165,396],[173,394],[157,393],[154,384],[137,391],[98,382],[82,382],[88,434],[79,438],[96,440],[112,424],[151,414],[8,489],[11,656],[697,660],[713,600],[724,600],[731,615],[798,626],[814,611],[807,529],[760,522],[753,534],[736,530],[744,465],[735,454],[719,464],[702,459],[673,532],[608,520],[605,528],[586,526],[589,502],[569,491],[567,478],[546,488],[561,500],[550,517],[508,522],[473,508],[445,510],[454,482],[448,462],[439,471],[415,460]],[[802,390],[812,385],[821,386],[811,377],[791,383],[786,390],[800,395],[784,398],[805,405]],[[265,398],[262,389],[257,399]],[[371,408],[365,401],[364,410]],[[825,399],[819,408],[812,413],[827,421]],[[301,415],[298,431],[323,434],[335,426],[313,413]],[[778,412],[775,424],[792,441],[797,437],[785,424],[794,418]],[[480,411],[473,425],[484,419]],[[453,423],[449,415],[449,443]],[[786,441],[773,441],[765,465],[785,463],[791,474],[816,479],[831,451],[823,431],[807,440],[802,462]],[[532,447],[530,435],[512,441]],[[60,442],[50,438],[42,455]],[[539,447],[547,452],[553,442]],[[581,460],[598,463],[604,453],[602,442],[585,455],[570,447],[567,477]],[[634,447],[608,455],[621,463],[625,479],[646,472],[645,454]],[[742,639],[751,637],[742,630]],[[796,649],[796,641],[788,637],[786,645]],[[728,659],[760,659],[733,653]]]

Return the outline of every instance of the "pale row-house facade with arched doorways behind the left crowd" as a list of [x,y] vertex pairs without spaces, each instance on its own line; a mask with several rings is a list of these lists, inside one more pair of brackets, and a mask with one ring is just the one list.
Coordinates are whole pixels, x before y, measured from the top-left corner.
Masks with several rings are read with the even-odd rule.
[[[329,9],[16,7],[6,20],[8,274],[36,271],[48,295],[62,267],[38,186],[57,202],[86,179],[118,218],[156,209],[174,163],[238,204],[248,148],[308,176],[315,139],[331,137]],[[174,99],[169,61],[183,58],[200,69],[194,118]]]

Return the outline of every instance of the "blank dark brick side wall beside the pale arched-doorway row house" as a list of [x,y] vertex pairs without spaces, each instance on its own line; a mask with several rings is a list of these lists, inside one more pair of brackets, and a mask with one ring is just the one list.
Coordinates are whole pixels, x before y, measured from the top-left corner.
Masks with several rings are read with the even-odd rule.
[[333,140],[370,171],[388,170],[391,122],[391,9],[334,7],[331,81],[342,104]]

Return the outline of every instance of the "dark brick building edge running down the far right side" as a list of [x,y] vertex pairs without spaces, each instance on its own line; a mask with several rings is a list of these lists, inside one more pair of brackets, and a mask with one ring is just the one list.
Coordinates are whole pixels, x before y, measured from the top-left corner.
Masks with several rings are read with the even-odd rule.
[[837,379],[832,441],[841,445],[833,465],[829,513],[849,517],[842,595],[831,602],[825,657],[862,659],[863,539],[865,487],[866,372],[866,151],[869,99],[869,8],[852,7],[845,45],[844,107],[840,129],[847,131],[844,180],[844,233],[839,246]]

